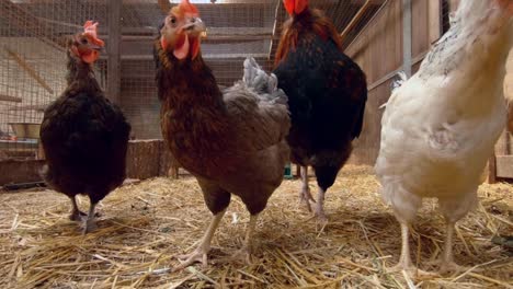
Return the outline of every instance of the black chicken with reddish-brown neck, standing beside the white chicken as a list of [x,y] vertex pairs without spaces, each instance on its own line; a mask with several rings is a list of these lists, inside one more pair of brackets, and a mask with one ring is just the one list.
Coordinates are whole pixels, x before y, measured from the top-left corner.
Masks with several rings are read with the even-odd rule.
[[285,91],[292,128],[287,137],[292,161],[304,166],[300,200],[314,200],[307,166],[317,176],[316,216],[326,221],[324,194],[362,132],[367,84],[365,73],[342,53],[334,25],[307,0],[284,0],[290,19],[285,22],[276,51],[274,73]]

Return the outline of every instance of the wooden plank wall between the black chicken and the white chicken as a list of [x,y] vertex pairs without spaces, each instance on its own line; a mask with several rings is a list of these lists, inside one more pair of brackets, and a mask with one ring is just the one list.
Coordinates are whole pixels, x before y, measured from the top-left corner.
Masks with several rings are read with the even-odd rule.
[[[355,141],[354,163],[374,165],[377,158],[384,111],[379,106],[387,102],[390,82],[402,69],[402,0],[388,1],[345,50],[365,71],[368,86],[364,129]],[[440,1],[412,0],[413,71],[441,36],[440,12]]]

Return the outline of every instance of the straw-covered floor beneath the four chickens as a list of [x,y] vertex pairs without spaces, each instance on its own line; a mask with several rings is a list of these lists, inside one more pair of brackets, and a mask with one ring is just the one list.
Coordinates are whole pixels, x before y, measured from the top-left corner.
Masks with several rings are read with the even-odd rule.
[[[311,178],[310,187],[316,193]],[[300,182],[284,181],[261,215],[253,263],[230,256],[249,215],[237,198],[215,234],[209,266],[173,273],[210,220],[192,177],[124,186],[99,206],[99,230],[81,235],[69,199],[47,189],[0,193],[0,288],[513,288],[513,186],[482,185],[480,205],[458,223],[456,262],[468,270],[411,278],[388,273],[399,224],[368,166],[346,166],[328,192],[329,223],[298,205]],[[87,198],[80,207],[87,210]],[[420,267],[440,256],[444,222],[425,201],[410,239]],[[512,241],[510,241],[511,243]]]

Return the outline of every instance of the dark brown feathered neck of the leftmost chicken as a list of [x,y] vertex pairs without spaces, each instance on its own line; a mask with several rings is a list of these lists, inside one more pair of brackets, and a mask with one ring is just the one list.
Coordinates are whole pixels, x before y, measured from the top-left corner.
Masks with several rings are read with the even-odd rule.
[[68,88],[101,91],[100,84],[94,78],[92,65],[73,57],[69,50],[67,56],[68,74],[66,76],[66,81]]

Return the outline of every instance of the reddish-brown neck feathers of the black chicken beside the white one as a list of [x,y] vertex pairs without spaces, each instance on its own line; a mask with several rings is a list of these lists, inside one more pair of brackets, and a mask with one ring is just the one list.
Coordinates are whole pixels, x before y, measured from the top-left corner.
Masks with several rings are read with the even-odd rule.
[[287,57],[289,50],[297,47],[299,37],[305,33],[316,33],[324,41],[331,39],[342,51],[342,39],[333,23],[317,9],[305,9],[300,14],[289,18],[283,24],[282,38],[276,50],[274,65]]

